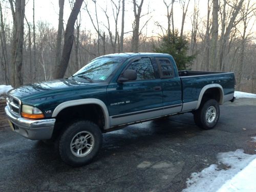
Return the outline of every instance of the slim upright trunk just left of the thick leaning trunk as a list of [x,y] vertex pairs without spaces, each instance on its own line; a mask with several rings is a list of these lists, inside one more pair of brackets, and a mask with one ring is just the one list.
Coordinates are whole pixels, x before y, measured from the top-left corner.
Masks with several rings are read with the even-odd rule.
[[[60,65],[61,60],[61,40],[62,40],[62,31],[63,31],[63,9],[64,9],[64,1],[59,0],[59,24],[58,24],[58,33],[57,33],[57,40],[56,40],[56,54],[55,54],[55,65]],[[54,77],[57,77],[58,69],[55,69]]]

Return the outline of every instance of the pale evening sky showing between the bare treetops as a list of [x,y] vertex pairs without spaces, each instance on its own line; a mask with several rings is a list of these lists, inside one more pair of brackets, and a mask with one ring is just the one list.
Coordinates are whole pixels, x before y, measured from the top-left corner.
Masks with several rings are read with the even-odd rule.
[[[3,2],[6,2],[6,5],[9,6],[9,2],[7,0],[1,0]],[[69,4],[70,0],[65,0],[65,8],[64,8],[64,24],[67,23],[68,17],[71,12],[71,7]],[[89,10],[91,14],[94,16],[94,6],[91,0],[84,0],[89,2]],[[114,0],[117,2],[118,0]],[[170,2],[171,0],[166,0],[166,2]],[[188,0],[186,0],[188,1]],[[232,2],[233,0],[230,0]],[[245,2],[247,2],[246,0]],[[250,0],[251,3],[256,3],[256,0]],[[138,2],[140,2],[138,0]],[[207,0],[190,0],[187,16],[185,19],[185,25],[184,25],[184,33],[190,33],[192,29],[191,20],[193,19],[193,12],[194,12],[194,4],[198,4],[199,9],[199,31],[205,31],[205,21],[207,16]],[[198,3],[199,2],[199,3]],[[4,3],[3,3],[4,4]],[[3,6],[2,7],[7,7]],[[100,29],[104,29],[104,24],[106,24],[106,17],[101,9],[108,8],[108,14],[110,16],[110,25],[111,30],[114,30],[114,18],[112,14],[112,7],[110,4],[110,0],[97,0],[97,12],[98,12],[98,20],[100,23]],[[11,23],[11,12],[9,9],[5,9],[5,16],[7,17],[7,20],[9,20],[9,23]],[[50,26],[54,27],[55,29],[58,28],[58,0],[35,0],[35,21],[42,21],[47,22],[50,24]],[[144,25],[146,20],[151,17],[150,21],[148,22],[147,28],[144,28],[142,33],[147,34],[148,37],[150,36],[159,36],[159,34],[162,35],[162,32],[159,27],[156,26],[156,22],[158,22],[161,26],[164,28],[167,28],[167,18],[166,18],[166,7],[163,3],[163,0],[144,0],[143,6],[142,6],[142,13],[141,15],[147,13],[147,11],[150,12],[149,15],[146,15],[141,18],[140,27]],[[25,8],[25,15],[29,23],[32,24],[33,22],[33,0],[26,0],[26,8]],[[248,30],[251,30],[252,34],[251,36],[256,37],[256,25],[254,23],[256,22],[255,16],[253,19],[250,20]],[[95,19],[95,18],[94,18]],[[176,0],[174,4],[174,25],[175,28],[180,31],[181,28],[181,19],[182,19],[182,9],[179,5],[179,1]],[[133,3],[132,0],[126,0],[125,3],[125,22],[124,22],[124,32],[130,32],[125,33],[125,36],[131,36],[132,33],[132,24],[134,21],[134,13],[133,13]],[[26,24],[25,24],[26,25]],[[121,9],[119,13],[119,21],[118,21],[118,31],[120,34],[121,31]],[[221,25],[219,26],[219,34],[221,32]],[[91,20],[88,16],[88,13],[86,10],[84,10],[84,3],[81,7],[81,29],[91,31],[93,34],[96,34],[96,31],[93,28],[93,25],[91,23]],[[238,29],[242,32],[242,24],[238,26]],[[106,30],[105,30],[106,31]],[[254,39],[256,41],[256,38]]]

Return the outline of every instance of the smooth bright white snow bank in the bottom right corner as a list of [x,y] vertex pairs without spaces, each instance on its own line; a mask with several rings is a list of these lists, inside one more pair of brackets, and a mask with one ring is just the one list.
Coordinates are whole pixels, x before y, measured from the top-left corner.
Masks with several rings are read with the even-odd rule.
[[256,159],[228,180],[217,192],[256,191]]

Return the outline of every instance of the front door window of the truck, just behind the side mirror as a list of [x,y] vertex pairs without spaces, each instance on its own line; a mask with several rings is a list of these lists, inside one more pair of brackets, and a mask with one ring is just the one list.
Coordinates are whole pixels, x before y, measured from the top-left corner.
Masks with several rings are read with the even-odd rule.
[[141,58],[133,61],[127,69],[137,72],[136,80],[155,79],[153,66],[150,58]]

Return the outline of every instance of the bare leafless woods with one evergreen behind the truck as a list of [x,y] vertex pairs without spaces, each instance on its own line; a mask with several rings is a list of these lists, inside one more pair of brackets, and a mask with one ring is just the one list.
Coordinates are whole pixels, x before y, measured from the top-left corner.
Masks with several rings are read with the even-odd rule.
[[256,93],[256,0],[44,1],[58,6],[56,26],[35,19],[38,1],[0,1],[0,84],[69,77],[105,54],[162,52],[179,70],[234,72],[236,90]]

